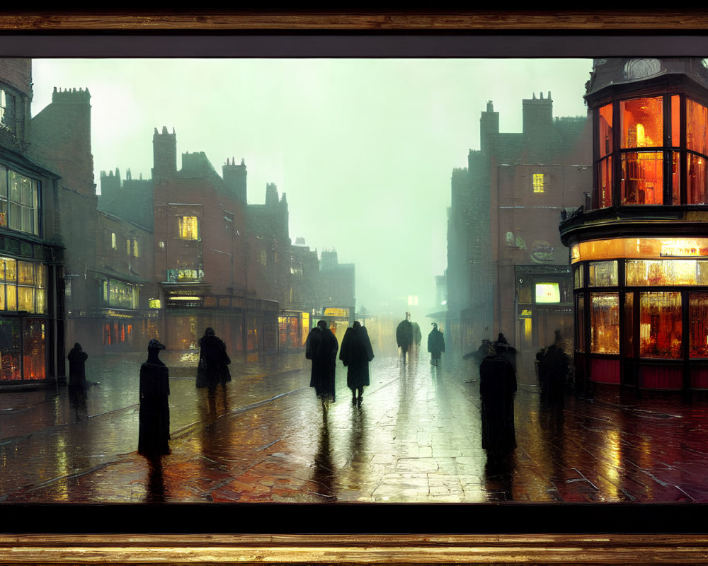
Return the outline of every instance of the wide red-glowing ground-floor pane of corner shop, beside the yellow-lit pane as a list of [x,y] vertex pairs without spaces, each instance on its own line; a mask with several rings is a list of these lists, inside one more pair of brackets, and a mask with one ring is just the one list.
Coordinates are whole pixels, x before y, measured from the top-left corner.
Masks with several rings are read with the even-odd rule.
[[681,294],[675,291],[639,294],[639,355],[681,357]]

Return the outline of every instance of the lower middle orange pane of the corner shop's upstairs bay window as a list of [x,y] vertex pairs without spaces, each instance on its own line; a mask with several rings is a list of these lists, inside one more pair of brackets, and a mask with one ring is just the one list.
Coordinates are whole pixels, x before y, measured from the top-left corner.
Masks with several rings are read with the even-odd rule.
[[663,153],[622,154],[622,204],[663,204]]

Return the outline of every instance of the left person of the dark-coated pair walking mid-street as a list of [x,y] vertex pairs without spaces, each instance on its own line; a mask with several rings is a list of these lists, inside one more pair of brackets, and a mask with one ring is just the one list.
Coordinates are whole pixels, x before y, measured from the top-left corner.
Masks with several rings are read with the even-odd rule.
[[305,357],[312,359],[310,387],[314,387],[317,398],[321,400],[324,414],[330,403],[334,403],[334,374],[337,365],[337,337],[327,328],[326,320],[319,320],[310,330],[305,340]]

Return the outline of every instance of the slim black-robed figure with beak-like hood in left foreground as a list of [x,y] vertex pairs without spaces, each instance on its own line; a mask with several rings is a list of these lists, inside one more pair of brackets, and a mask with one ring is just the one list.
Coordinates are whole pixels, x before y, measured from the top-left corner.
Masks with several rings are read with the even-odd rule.
[[155,338],[140,366],[140,412],[137,451],[148,458],[170,453],[169,370],[159,359],[165,347]]

